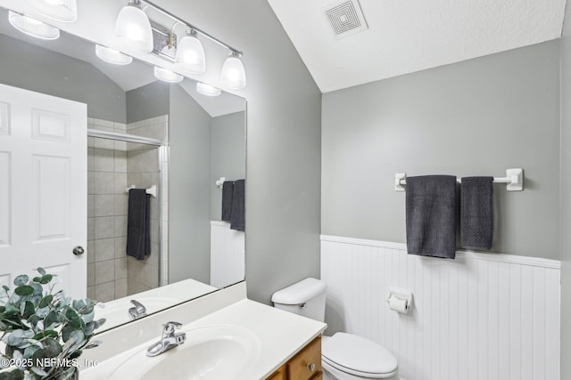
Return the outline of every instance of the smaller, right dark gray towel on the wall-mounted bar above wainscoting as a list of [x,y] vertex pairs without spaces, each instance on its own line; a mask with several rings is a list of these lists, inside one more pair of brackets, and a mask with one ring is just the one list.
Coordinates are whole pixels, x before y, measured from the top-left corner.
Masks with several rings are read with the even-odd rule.
[[461,246],[492,249],[493,177],[464,177],[460,194]]

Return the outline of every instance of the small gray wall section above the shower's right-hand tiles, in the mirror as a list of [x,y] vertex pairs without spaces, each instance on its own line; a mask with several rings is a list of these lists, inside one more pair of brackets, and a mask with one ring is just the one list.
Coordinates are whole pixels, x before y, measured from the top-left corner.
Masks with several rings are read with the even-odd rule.
[[127,123],[167,115],[169,109],[170,84],[168,83],[157,80],[127,92]]

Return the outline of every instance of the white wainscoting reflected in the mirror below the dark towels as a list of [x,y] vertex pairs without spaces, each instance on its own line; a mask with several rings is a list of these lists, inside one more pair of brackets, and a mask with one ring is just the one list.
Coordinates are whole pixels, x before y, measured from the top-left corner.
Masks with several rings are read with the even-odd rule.
[[228,287],[244,279],[244,232],[230,223],[211,221],[211,286]]

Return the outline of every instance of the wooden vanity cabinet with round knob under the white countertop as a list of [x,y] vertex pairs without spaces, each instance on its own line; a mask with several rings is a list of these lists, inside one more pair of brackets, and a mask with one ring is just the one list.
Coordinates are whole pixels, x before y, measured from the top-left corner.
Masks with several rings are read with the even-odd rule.
[[321,336],[297,352],[295,356],[271,374],[269,380],[320,380],[321,369]]

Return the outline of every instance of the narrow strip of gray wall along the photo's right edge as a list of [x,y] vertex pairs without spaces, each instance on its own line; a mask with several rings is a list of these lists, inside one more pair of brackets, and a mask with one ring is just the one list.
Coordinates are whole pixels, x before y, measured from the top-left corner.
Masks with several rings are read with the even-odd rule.
[[561,38],[561,378],[571,378],[571,7]]

